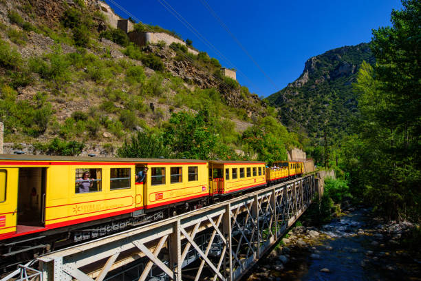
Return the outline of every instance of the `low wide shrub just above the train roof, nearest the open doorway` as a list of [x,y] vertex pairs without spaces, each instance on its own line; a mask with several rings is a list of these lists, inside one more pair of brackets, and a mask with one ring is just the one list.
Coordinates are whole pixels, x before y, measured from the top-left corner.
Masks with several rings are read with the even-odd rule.
[[79,143],[77,141],[60,141],[58,138],[54,138],[54,140],[47,144],[34,144],[34,149],[37,152],[61,156],[77,156],[82,153],[84,147],[84,143]]

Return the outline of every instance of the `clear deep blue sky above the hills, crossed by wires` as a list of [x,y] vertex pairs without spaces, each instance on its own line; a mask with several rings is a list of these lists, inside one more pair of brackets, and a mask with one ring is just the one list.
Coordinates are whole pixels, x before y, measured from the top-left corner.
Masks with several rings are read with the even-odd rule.
[[[305,61],[312,56],[344,45],[369,42],[371,29],[390,25],[392,8],[402,8],[399,0],[113,1],[144,23],[175,30],[184,40],[191,39],[195,48],[208,52],[224,67],[237,68],[239,83],[259,96],[273,94],[297,79],[303,72]],[[121,17],[129,17],[111,1],[106,2]],[[160,2],[168,3],[181,14],[228,61],[196,37]],[[203,3],[208,3],[222,19],[266,75]]]

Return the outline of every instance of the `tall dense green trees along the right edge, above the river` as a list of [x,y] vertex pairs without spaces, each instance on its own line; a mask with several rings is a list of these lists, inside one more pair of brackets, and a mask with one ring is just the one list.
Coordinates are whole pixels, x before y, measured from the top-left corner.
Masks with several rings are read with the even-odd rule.
[[402,1],[391,27],[373,30],[376,65],[354,88],[361,120],[359,176],[365,199],[390,219],[420,220],[420,1]]

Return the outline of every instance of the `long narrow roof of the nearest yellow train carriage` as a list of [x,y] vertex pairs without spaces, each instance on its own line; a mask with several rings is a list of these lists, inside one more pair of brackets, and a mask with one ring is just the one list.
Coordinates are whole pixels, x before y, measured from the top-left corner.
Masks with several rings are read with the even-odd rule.
[[87,156],[51,156],[51,155],[16,155],[0,154],[1,160],[26,161],[68,161],[68,162],[129,162],[129,163],[207,163],[197,159],[166,159],[166,158],[118,158],[118,157],[87,157]]

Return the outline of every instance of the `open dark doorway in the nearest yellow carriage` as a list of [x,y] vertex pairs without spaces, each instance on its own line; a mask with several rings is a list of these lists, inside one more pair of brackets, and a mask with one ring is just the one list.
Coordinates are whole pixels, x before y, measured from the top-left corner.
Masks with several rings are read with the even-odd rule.
[[17,233],[45,226],[47,168],[19,168]]

